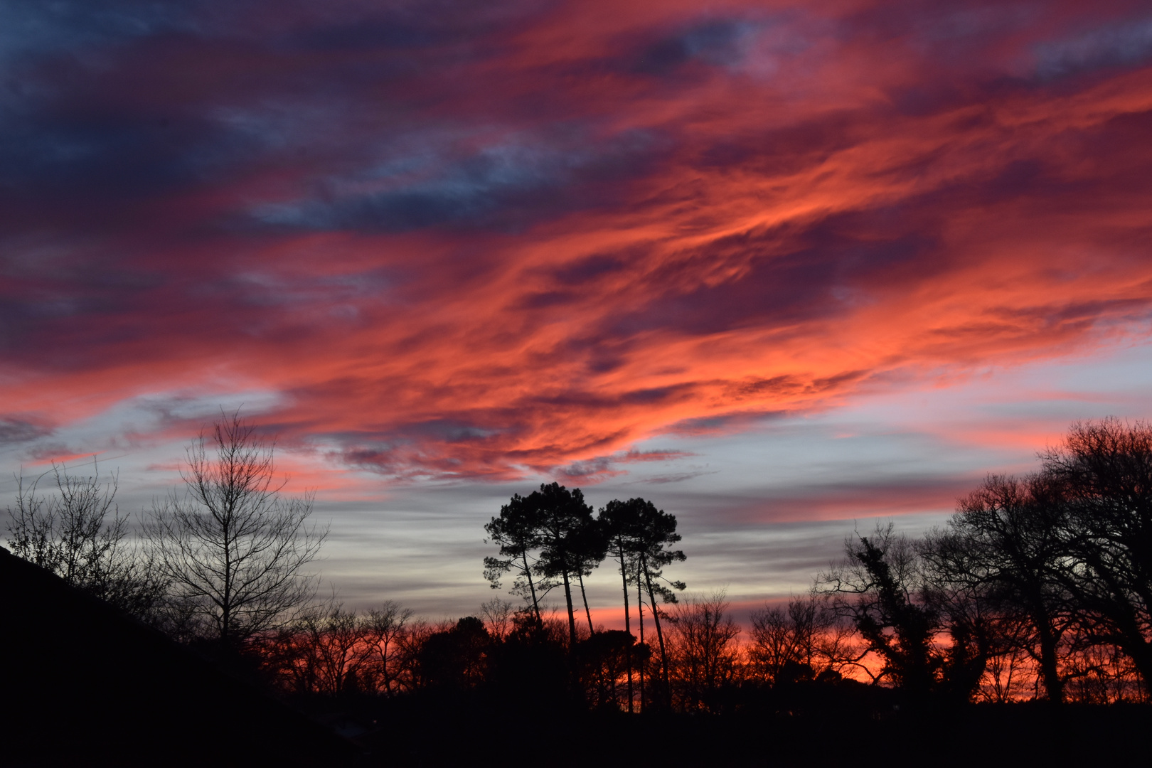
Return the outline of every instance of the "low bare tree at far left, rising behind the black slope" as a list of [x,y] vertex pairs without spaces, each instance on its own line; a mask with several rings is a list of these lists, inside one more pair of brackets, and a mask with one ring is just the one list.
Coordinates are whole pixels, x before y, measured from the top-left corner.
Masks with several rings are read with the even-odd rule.
[[[55,488],[40,493],[40,480],[50,473]],[[116,480],[115,474],[101,480],[96,459],[86,477],[53,464],[29,484],[17,478],[16,507],[8,508],[8,546],[68,584],[150,619],[166,585],[126,543],[128,516],[115,503]]]

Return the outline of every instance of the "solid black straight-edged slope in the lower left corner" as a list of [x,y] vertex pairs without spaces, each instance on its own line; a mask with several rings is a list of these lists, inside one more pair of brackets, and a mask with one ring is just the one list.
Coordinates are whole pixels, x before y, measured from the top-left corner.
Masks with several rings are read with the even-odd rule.
[[332,766],[351,743],[0,547],[0,762]]

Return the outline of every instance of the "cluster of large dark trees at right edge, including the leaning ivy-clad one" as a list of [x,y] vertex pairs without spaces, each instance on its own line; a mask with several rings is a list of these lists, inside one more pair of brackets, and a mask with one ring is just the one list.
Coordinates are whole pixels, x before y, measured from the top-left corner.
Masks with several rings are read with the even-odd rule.
[[1039,458],[920,540],[849,540],[818,579],[879,662],[870,676],[916,699],[1147,700],[1152,427],[1077,423]]

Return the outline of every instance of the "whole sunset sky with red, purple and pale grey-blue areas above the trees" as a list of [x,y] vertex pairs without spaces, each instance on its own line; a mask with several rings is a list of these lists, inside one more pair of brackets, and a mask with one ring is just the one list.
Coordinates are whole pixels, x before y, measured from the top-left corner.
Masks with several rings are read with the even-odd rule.
[[1152,417],[1150,136],[1145,2],[0,1],[0,505],[238,409],[349,606],[551,481],[802,593]]

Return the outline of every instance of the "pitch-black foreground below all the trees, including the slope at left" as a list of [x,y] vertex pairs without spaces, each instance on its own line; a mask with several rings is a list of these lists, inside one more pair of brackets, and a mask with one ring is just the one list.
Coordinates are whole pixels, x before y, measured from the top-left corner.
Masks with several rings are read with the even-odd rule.
[[1152,707],[911,707],[858,684],[749,690],[722,715],[588,712],[559,679],[276,699],[0,549],[5,766],[1147,765]]

